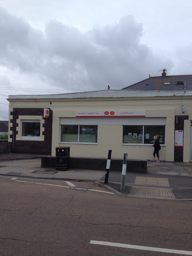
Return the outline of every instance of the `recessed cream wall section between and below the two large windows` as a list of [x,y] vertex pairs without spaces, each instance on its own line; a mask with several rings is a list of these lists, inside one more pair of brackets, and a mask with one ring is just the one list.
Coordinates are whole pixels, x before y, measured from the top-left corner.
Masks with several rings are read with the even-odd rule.
[[[55,143],[55,146],[56,143]],[[70,156],[106,158],[112,150],[112,158],[123,158],[127,153],[129,159],[151,159],[152,145],[122,145],[122,125],[98,125],[98,144],[59,143],[59,146],[70,146]],[[55,156],[55,147],[52,148]],[[165,146],[159,151],[161,160],[165,159]]]

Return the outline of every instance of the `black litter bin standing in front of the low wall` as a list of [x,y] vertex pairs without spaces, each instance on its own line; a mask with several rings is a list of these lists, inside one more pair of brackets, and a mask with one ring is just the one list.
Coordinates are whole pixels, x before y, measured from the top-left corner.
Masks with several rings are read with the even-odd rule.
[[70,161],[70,147],[57,146],[56,147],[56,170],[68,170]]

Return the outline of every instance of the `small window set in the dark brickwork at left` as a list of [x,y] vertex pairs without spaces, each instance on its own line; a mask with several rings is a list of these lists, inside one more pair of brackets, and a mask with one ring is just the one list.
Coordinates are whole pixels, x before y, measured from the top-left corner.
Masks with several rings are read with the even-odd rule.
[[21,120],[21,137],[39,138],[40,120]]

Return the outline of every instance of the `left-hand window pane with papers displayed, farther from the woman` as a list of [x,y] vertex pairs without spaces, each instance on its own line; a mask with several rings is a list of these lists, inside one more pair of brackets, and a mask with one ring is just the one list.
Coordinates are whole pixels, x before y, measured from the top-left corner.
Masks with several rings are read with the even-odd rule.
[[123,125],[122,143],[142,144],[142,125]]

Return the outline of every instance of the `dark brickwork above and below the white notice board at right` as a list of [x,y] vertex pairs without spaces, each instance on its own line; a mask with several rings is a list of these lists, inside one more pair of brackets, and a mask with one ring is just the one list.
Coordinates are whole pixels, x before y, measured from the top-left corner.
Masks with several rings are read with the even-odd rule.
[[[184,120],[188,120],[188,115],[176,115],[174,118],[174,130],[183,130]],[[174,161],[183,161],[183,147],[174,146]]]

